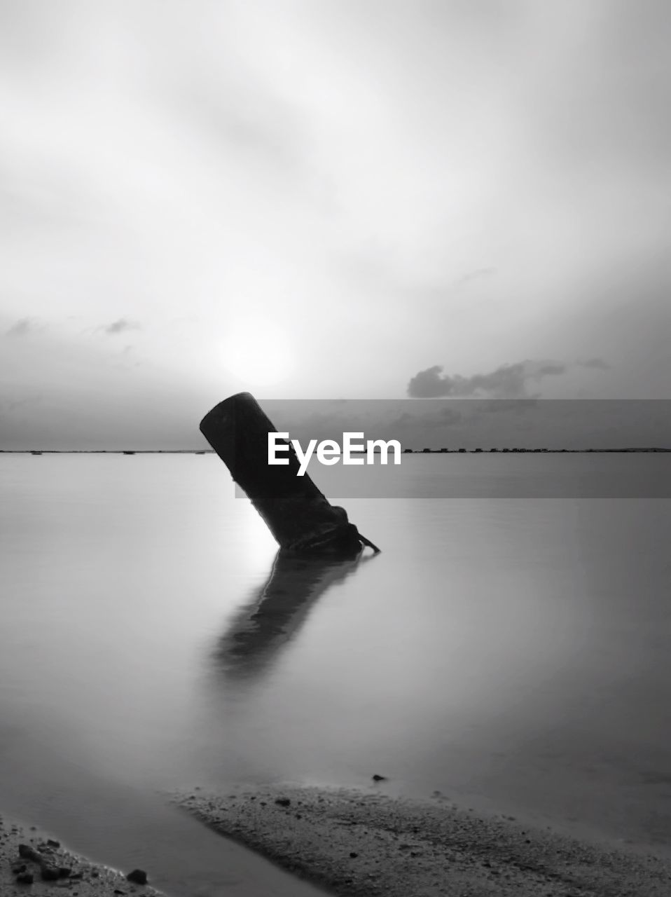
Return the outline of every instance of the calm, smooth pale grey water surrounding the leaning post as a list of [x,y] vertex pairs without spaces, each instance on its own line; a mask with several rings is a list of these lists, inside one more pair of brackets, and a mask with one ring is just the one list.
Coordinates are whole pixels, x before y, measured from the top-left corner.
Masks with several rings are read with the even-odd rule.
[[[398,475],[431,495],[470,460]],[[0,806],[93,857],[177,893],[175,845],[216,847],[157,789],[374,772],[668,840],[667,499],[349,499],[383,553],[274,568],[213,456],[4,455],[0,496]]]

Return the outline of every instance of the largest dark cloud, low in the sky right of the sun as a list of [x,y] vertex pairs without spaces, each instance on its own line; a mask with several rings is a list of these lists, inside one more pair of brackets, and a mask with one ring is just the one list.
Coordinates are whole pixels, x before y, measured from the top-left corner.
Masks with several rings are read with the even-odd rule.
[[462,377],[455,374],[442,373],[442,366],[433,365],[420,370],[410,380],[407,394],[412,398],[453,398],[489,397],[489,398],[531,398],[527,385],[530,380],[539,382],[544,377],[556,377],[566,371],[561,361],[518,361],[516,364],[504,364],[486,374],[474,374]]

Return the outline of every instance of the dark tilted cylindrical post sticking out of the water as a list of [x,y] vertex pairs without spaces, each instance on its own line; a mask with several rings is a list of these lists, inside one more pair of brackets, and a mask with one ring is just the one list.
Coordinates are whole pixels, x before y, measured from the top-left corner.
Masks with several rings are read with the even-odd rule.
[[282,454],[288,465],[268,464],[268,433],[277,430],[250,393],[238,393],[215,405],[200,422],[200,430],[280,548],[352,556],[364,544],[379,552],[349,522],[344,508],[327,501],[309,475],[298,476],[300,465],[291,443]]

